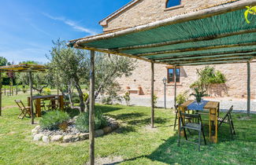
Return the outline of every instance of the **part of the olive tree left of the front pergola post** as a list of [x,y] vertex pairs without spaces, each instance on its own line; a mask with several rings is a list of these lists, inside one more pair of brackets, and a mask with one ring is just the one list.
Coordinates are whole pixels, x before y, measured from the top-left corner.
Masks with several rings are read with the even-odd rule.
[[[54,75],[58,75],[61,83],[61,91],[63,87],[68,87],[69,98],[71,97],[72,86],[78,92],[80,98],[80,112],[84,111],[85,105],[83,103],[83,92],[80,86],[81,79],[88,77],[88,59],[87,52],[80,49],[72,49],[65,45],[64,41],[58,40],[53,42],[54,46],[50,51],[50,71]],[[69,99],[71,101],[71,99]]]

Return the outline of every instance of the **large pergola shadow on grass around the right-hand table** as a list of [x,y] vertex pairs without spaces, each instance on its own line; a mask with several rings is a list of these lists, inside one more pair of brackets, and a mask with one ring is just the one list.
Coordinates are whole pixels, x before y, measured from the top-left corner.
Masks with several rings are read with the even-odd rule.
[[[245,115],[242,115],[244,117]],[[236,135],[232,138],[230,134],[229,125],[223,124],[218,130],[218,143],[212,144],[209,141],[209,127],[204,127],[206,135],[206,145],[201,145],[201,152],[198,152],[198,145],[184,142],[181,138],[180,147],[177,145],[177,132],[172,137],[163,139],[163,143],[158,146],[153,152],[148,155],[136,156],[131,159],[124,159],[117,163],[132,163],[136,159],[147,158],[151,161],[158,161],[161,163],[254,163],[254,143],[256,141],[256,116],[251,117],[250,120],[240,120],[241,115],[233,116],[235,119]],[[243,119],[243,118],[242,118]],[[148,121],[148,120],[147,120]],[[131,123],[132,124],[132,123]],[[188,140],[197,138],[196,134],[188,135]]]

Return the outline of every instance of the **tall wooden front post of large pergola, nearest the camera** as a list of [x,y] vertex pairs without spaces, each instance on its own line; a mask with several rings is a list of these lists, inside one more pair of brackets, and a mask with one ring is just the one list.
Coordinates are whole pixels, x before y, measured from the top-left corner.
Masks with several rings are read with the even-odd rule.
[[89,140],[90,165],[95,164],[95,51],[91,50],[90,68],[90,107],[89,107]]

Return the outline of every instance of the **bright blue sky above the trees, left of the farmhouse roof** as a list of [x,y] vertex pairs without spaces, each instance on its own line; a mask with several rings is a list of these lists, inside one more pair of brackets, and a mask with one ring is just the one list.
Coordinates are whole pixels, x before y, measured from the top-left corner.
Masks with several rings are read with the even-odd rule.
[[99,20],[130,0],[0,0],[0,56],[47,62],[52,40],[102,32]]

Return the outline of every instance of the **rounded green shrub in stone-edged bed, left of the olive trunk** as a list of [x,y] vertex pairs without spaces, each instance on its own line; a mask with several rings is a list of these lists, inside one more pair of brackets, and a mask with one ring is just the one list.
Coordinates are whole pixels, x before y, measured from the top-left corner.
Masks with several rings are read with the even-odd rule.
[[57,130],[59,126],[67,120],[69,120],[69,114],[57,110],[46,112],[46,115],[40,119],[39,125],[45,130]]

